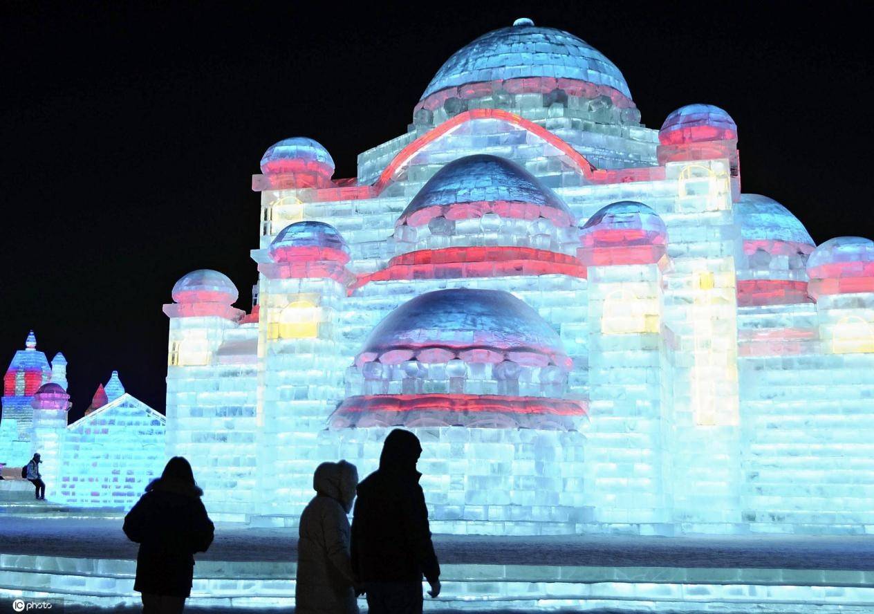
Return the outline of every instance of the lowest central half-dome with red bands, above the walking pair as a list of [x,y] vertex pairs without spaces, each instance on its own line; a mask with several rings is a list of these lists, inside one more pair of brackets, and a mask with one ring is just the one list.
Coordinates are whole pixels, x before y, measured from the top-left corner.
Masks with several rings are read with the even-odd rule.
[[500,290],[421,294],[387,315],[350,369],[333,428],[452,426],[570,430],[572,367],[551,326]]

